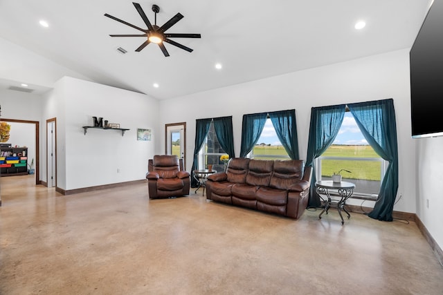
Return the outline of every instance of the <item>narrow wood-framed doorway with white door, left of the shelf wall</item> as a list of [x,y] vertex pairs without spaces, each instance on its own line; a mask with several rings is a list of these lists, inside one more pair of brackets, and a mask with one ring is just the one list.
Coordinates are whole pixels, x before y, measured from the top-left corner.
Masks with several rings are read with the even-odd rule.
[[57,120],[46,120],[46,181],[48,187],[57,187]]

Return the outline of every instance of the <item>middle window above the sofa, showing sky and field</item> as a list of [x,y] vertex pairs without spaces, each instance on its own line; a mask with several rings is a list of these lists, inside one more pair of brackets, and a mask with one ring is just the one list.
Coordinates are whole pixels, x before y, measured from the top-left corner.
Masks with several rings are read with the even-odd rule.
[[258,160],[287,160],[289,155],[278,139],[270,118],[266,119],[260,139],[255,144],[249,157]]

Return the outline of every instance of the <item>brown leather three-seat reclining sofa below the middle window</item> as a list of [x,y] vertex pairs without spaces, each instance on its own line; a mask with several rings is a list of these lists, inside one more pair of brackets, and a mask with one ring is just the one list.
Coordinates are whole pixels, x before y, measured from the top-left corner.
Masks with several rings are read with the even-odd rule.
[[298,219],[307,207],[311,167],[302,160],[233,158],[208,176],[206,198]]

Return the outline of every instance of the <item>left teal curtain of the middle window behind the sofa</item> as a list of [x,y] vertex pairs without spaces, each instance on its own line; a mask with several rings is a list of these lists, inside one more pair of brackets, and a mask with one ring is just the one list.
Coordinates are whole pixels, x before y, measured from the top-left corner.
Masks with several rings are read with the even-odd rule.
[[242,145],[240,146],[241,158],[246,158],[246,155],[254,148],[262,134],[267,115],[267,113],[243,115]]

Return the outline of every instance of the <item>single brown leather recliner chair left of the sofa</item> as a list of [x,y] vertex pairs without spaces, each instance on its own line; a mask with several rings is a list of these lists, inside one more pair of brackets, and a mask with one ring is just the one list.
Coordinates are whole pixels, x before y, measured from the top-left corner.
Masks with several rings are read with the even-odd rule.
[[177,155],[154,155],[147,165],[147,188],[150,199],[189,195],[190,174]]

